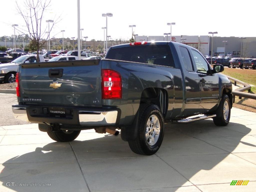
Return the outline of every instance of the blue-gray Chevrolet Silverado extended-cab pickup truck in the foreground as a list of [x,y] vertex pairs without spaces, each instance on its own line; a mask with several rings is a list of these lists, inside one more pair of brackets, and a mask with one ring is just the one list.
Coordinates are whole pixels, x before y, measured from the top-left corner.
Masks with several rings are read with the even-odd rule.
[[86,129],[113,135],[121,129],[133,152],[152,155],[167,122],[229,123],[232,85],[223,70],[176,42],[117,45],[102,60],[22,64],[12,109],[55,141],[73,141]]

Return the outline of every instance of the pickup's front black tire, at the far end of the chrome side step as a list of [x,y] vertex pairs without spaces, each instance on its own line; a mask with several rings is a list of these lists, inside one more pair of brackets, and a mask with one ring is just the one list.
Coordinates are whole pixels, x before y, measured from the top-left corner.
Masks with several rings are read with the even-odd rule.
[[[228,115],[224,116],[224,104],[228,105]],[[226,106],[227,107],[227,106]],[[226,126],[229,123],[230,120],[230,112],[231,112],[231,105],[228,95],[223,94],[222,99],[220,101],[220,104],[218,106],[218,109],[216,111],[216,117],[213,118],[213,122],[217,126]]]

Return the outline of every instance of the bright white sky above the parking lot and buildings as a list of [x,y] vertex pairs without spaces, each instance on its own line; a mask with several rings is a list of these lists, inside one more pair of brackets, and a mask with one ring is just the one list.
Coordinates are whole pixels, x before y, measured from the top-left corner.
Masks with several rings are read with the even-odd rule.
[[[19,6],[24,1],[17,0]],[[0,36],[13,35],[12,24],[18,24],[19,29],[25,28],[23,18],[17,13],[15,0],[0,2]],[[255,6],[256,1],[251,0],[80,0],[80,28],[84,29],[82,36],[88,36],[87,40],[103,40],[101,27],[106,26],[106,17],[102,17],[102,13],[112,13],[113,17],[108,17],[108,35],[112,39],[131,38],[132,28],[129,25],[136,25],[134,34],[139,36],[163,36],[170,33],[170,26],[167,25],[170,22],[176,23],[172,26],[172,36],[200,36],[217,31],[217,36],[221,37],[255,37]],[[60,31],[65,30],[65,38],[77,38],[77,0],[51,0],[48,9],[43,20],[61,18],[50,36],[62,38]],[[43,22],[42,28],[46,26],[47,23]]]

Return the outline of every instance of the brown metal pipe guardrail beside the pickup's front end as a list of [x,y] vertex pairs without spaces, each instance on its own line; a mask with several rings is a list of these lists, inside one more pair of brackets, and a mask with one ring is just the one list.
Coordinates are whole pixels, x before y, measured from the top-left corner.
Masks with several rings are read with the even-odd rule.
[[[226,75],[227,76],[227,75]],[[239,89],[236,89],[235,91],[232,91],[233,95],[239,96],[239,99],[242,99],[242,97],[249,98],[249,99],[256,99],[256,94],[252,94],[251,92],[251,86],[243,81],[240,81],[238,79],[235,79],[233,77],[227,76],[228,79],[234,81],[234,85],[236,86],[237,83],[242,84],[244,87],[241,87]],[[243,91],[248,90],[248,93],[244,93]],[[233,98],[233,103],[235,102],[235,97]]]

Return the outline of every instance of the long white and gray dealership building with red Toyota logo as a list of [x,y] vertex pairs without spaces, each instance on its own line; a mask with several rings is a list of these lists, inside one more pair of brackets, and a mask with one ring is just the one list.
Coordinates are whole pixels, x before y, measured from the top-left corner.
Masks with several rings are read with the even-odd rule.
[[[170,36],[136,36],[136,41],[170,41]],[[183,42],[186,45],[195,47],[204,56],[211,55],[212,37],[208,35],[201,36],[172,36],[172,41]],[[227,41],[227,42],[223,42]],[[214,37],[213,38],[213,54],[212,55],[231,55],[232,57],[240,57],[242,47],[242,56],[256,57],[256,37]]]

